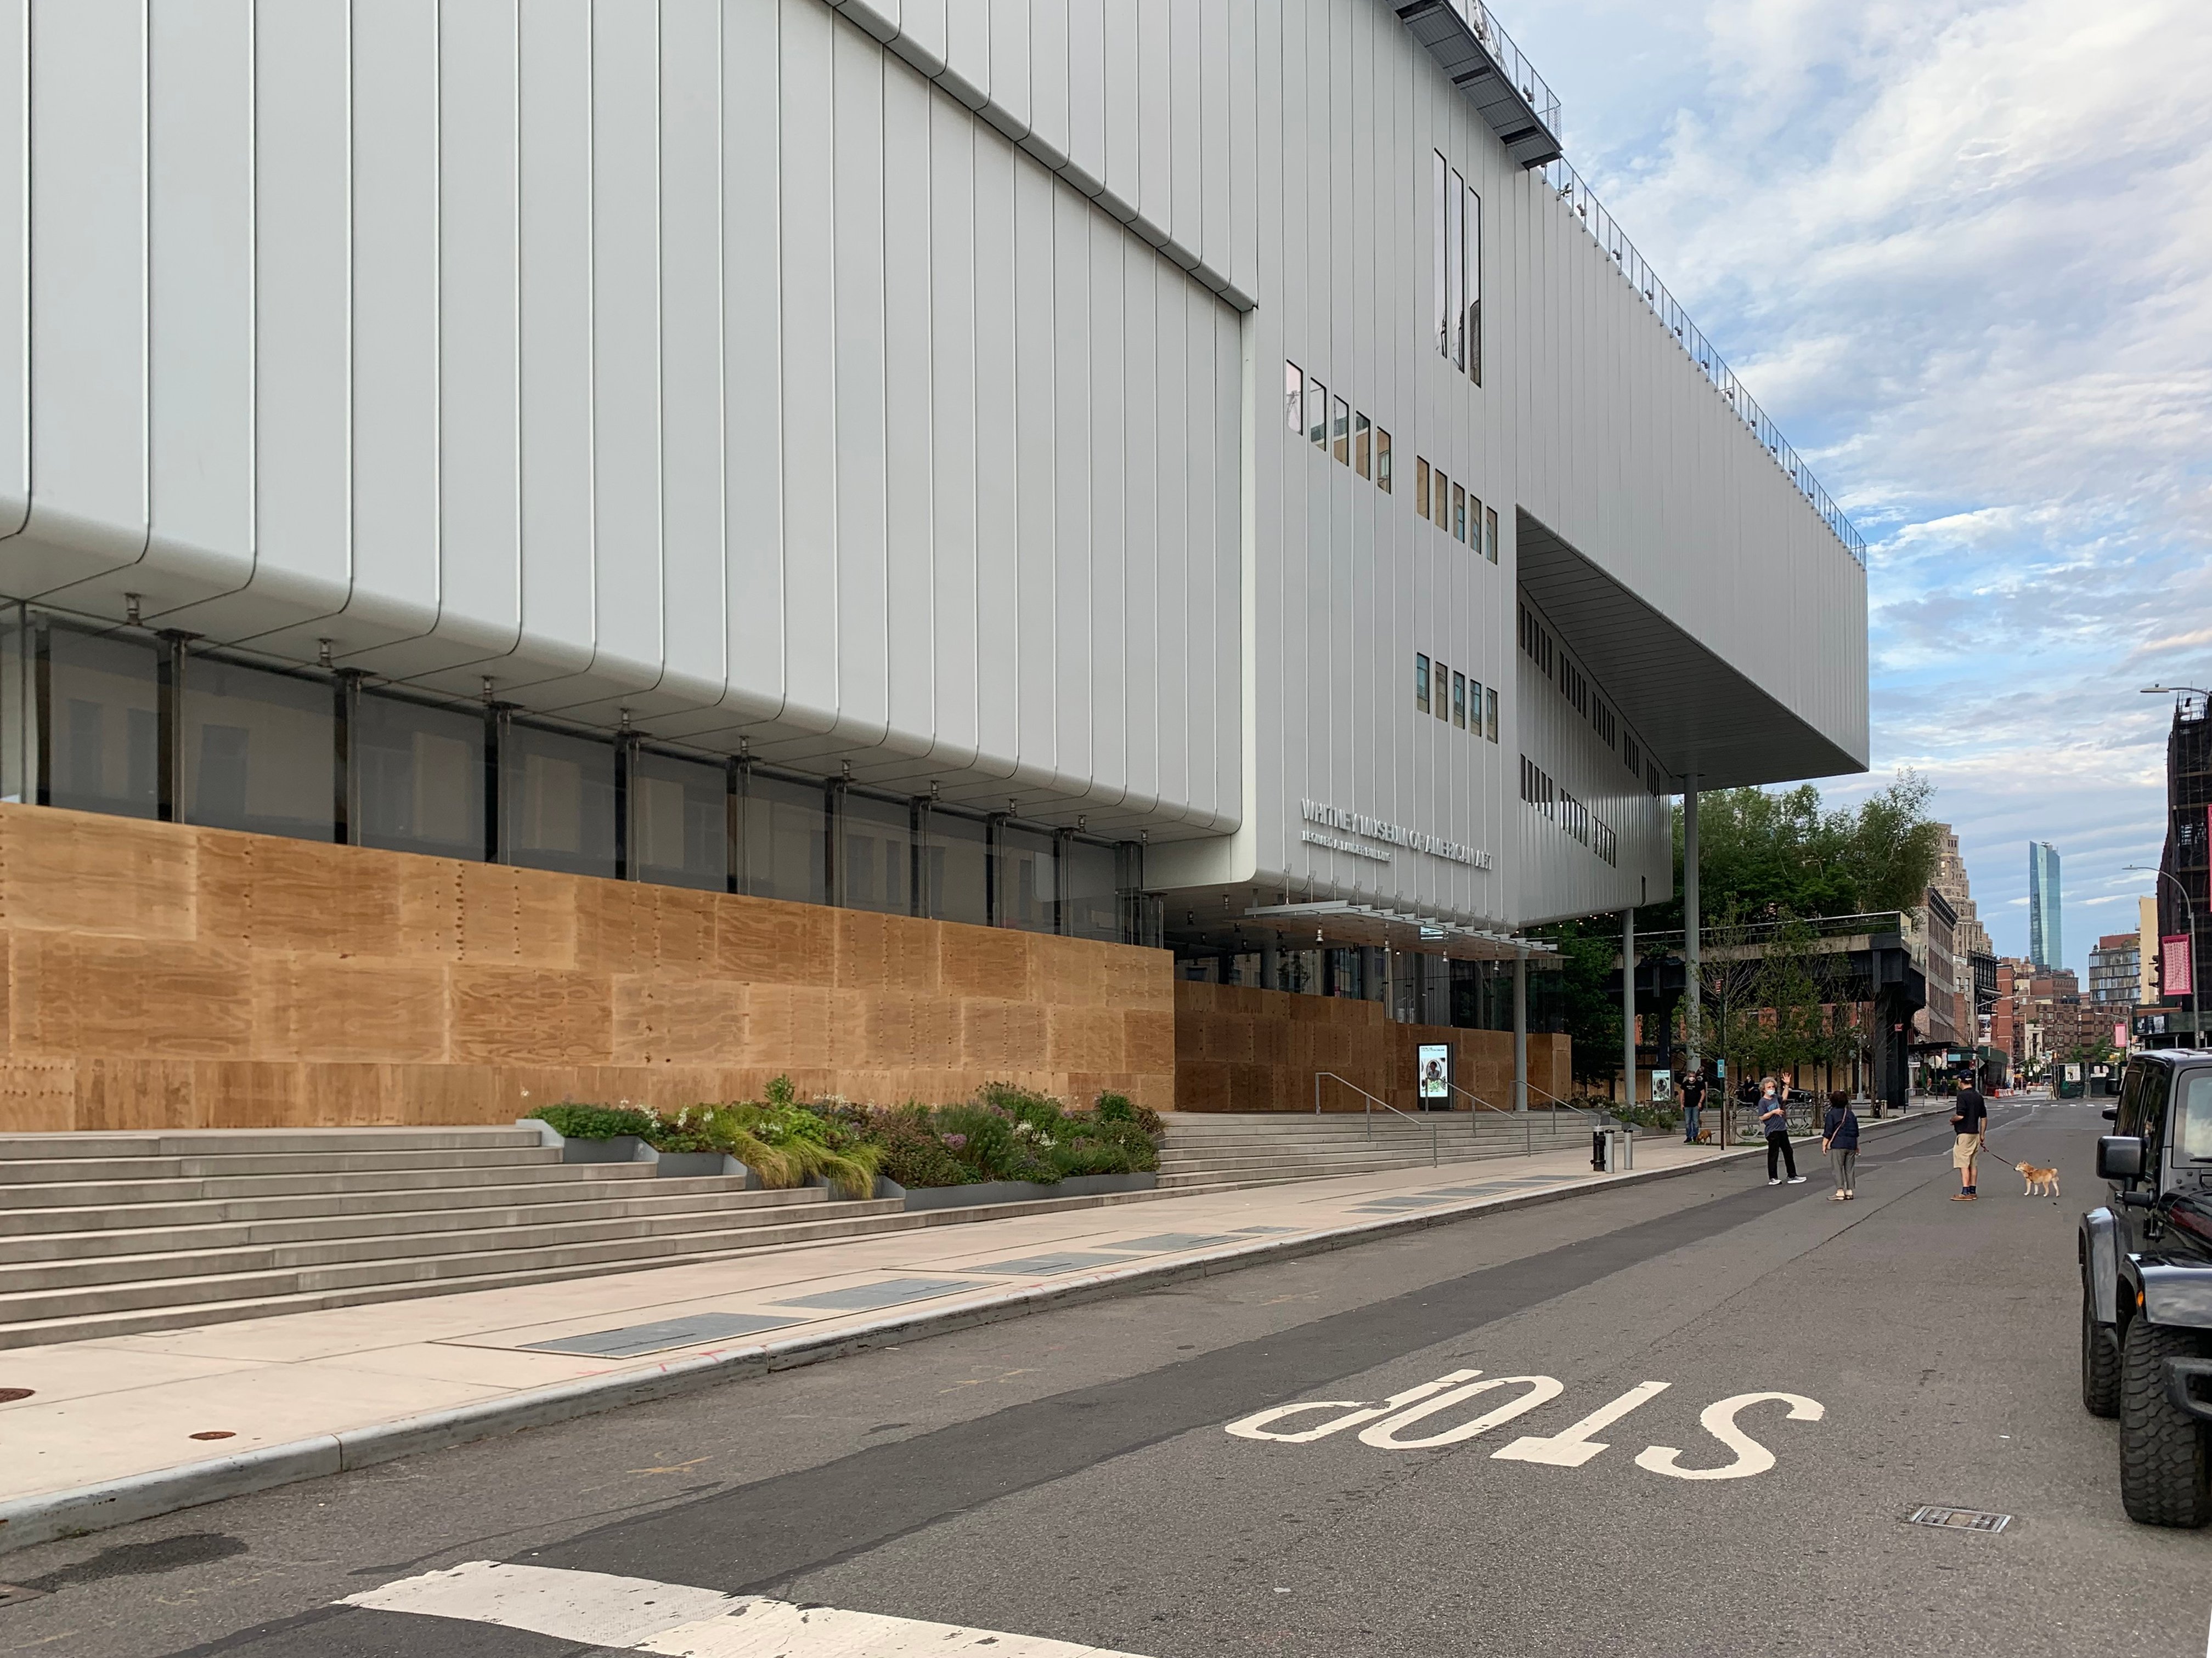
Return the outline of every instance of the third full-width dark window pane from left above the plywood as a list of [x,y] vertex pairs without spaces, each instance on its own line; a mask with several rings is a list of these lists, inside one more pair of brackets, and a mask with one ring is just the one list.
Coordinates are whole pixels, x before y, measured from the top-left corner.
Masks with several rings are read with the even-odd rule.
[[484,858],[484,714],[363,692],[349,734],[363,847]]

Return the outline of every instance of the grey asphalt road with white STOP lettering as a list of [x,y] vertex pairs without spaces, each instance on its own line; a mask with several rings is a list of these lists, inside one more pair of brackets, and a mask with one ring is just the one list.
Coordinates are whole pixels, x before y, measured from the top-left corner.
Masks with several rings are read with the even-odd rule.
[[[2064,1200],[1989,1163],[1951,1203],[1938,1121],[1869,1138],[1849,1205],[1825,1172],[1732,1165],[0,1556],[44,1589],[0,1605],[0,1654],[635,1649],[560,1598],[606,1592],[577,1574],[1002,1631],[1000,1654],[2197,1654],[2212,1532],[2130,1525],[2115,1428],[2077,1399],[2099,1127],[1997,1114],[1993,1150],[2057,1165]],[[1537,1379],[1254,1437],[1453,1373]],[[1790,1397],[1719,1415],[1759,1393]],[[1298,1402],[1345,1408],[1250,1421]],[[1679,1477],[1712,1470],[1736,1477]],[[1902,1523],[1927,1503],[2013,1519]],[[338,1605],[471,1561],[540,1567],[566,1609]]]

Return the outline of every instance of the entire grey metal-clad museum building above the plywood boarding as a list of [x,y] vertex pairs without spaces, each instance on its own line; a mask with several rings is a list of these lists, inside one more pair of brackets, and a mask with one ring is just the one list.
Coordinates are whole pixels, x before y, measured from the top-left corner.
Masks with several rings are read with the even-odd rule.
[[122,0],[0,99],[9,798],[1464,959],[1867,763],[1858,535],[1471,0]]

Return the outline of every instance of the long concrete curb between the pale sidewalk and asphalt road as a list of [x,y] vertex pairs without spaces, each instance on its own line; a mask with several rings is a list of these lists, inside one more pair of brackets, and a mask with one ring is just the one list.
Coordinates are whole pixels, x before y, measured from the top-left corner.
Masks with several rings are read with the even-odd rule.
[[[1882,1119],[1880,1123],[1867,1123],[1863,1132],[1905,1127],[1907,1123],[1918,1121],[1924,1121],[1924,1116]],[[482,1404],[431,1410],[418,1417],[400,1417],[398,1421],[378,1421],[365,1428],[314,1435],[281,1446],[237,1452],[232,1457],[215,1457],[208,1461],[184,1463],[179,1468],[157,1468],[146,1475],[126,1475],[95,1486],[75,1486],[69,1490],[38,1492],[33,1497],[15,1497],[0,1503],[0,1554],[35,1547],[38,1543],[86,1536],[113,1525],[131,1525],[133,1521],[175,1514],[177,1510],[199,1508],[201,1503],[219,1503],[230,1497],[250,1497],[252,1492],[294,1486],[305,1479],[323,1479],[325,1475],[372,1468],[380,1461],[396,1461],[398,1457],[465,1446],[476,1439],[493,1439],[524,1428],[544,1428],[557,1421],[573,1421],[577,1417],[599,1415],[602,1410],[619,1410],[633,1404],[672,1399],[686,1393],[721,1386],[726,1382],[745,1382],[772,1375],[774,1371],[794,1371],[803,1364],[823,1364],[827,1360],[847,1357],[874,1346],[911,1342],[927,1335],[949,1335],[951,1331],[998,1324],[1029,1313],[1108,1300],[1113,1295],[1128,1295],[1194,1278],[1214,1278],[1219,1273],[1232,1273],[1272,1260],[1296,1260],[1303,1256],[1332,1253],[1336,1249],[1354,1249],[1383,1238],[1455,1225],[1478,1214],[1504,1214],[1509,1209],[1564,1203],[1590,1192],[1624,1185],[1672,1180],[1699,1169],[1739,1163],[1743,1158],[1759,1156],[1761,1152],[1765,1152],[1765,1145],[1730,1147],[1710,1158],[1666,1169],[1630,1169],[1626,1174],[1595,1176],[1590,1180],[1553,1187],[1548,1192],[1469,1198],[1451,1207],[1360,1220],[1356,1225],[1340,1225],[1303,1238],[1261,1238],[1164,1265],[1126,1265],[1084,1273],[1055,1284],[989,1291],[951,1307],[883,1318],[823,1335],[790,1335],[781,1342],[714,1349],[670,1360],[653,1368],[622,1371],[617,1375],[586,1377],[582,1382],[562,1382],[551,1388],[531,1388],[529,1393],[515,1393],[504,1399],[484,1399]]]

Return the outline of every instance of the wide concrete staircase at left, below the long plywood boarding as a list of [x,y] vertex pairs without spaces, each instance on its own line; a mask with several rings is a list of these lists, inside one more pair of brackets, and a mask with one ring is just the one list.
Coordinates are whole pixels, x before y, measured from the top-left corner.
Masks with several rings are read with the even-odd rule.
[[515,1127],[0,1134],[0,1349],[668,1267],[900,1211],[560,1156]]

